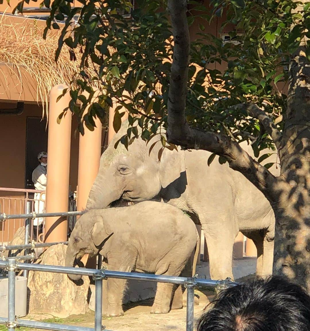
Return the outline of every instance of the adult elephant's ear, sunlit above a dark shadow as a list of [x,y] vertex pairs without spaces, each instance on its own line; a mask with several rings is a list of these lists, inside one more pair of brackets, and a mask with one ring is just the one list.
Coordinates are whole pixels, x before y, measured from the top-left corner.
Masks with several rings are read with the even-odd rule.
[[178,151],[164,148],[159,163],[159,179],[161,186],[166,188],[169,184],[180,178],[185,172],[185,153],[178,147]]

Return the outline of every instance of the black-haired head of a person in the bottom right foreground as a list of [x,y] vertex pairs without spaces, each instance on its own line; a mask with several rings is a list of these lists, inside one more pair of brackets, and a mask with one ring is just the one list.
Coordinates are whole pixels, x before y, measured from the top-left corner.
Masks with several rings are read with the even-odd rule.
[[282,277],[242,283],[220,292],[197,331],[309,331],[310,296]]

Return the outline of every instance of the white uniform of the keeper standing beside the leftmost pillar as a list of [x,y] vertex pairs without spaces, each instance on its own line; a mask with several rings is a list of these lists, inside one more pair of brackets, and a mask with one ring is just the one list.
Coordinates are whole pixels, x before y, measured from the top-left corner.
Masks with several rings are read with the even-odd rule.
[[[32,181],[36,190],[46,190],[46,166],[38,165],[32,172]],[[45,193],[34,193],[34,211],[35,213],[44,213]],[[43,223],[43,217],[36,217],[33,220],[33,225],[38,226]]]

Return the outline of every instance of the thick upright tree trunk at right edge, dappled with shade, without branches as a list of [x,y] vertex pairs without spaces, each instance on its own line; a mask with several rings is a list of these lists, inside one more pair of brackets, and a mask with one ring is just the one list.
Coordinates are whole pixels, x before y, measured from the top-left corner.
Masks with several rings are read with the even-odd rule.
[[290,63],[290,84],[279,156],[284,185],[275,190],[274,273],[310,292],[310,63],[300,47]]

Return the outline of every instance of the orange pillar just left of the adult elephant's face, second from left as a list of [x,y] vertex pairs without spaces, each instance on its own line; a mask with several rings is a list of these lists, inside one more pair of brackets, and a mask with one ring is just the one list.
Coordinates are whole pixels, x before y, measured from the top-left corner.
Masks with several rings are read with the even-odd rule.
[[[98,93],[94,94],[94,98]],[[89,95],[86,94],[86,98]],[[89,106],[85,109],[87,113]],[[78,147],[78,176],[77,176],[77,210],[82,211],[86,207],[86,202],[91,186],[99,170],[101,156],[101,132],[102,124],[99,118],[94,119],[96,127],[94,131],[87,128],[84,135],[79,134]],[[88,259],[88,254],[81,261],[87,268],[96,267],[96,257]]]

